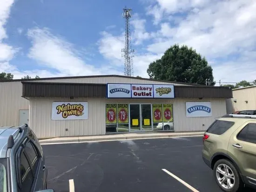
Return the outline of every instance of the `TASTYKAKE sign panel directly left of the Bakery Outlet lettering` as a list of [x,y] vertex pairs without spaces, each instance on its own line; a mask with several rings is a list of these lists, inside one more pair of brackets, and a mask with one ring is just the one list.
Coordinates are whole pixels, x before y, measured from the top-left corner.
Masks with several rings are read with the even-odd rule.
[[108,98],[131,98],[131,84],[107,84]]

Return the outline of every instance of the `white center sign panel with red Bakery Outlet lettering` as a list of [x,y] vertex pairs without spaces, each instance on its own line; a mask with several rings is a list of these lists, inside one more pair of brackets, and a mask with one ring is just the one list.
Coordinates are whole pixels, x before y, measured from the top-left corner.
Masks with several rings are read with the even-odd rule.
[[153,85],[132,84],[132,98],[153,98]]

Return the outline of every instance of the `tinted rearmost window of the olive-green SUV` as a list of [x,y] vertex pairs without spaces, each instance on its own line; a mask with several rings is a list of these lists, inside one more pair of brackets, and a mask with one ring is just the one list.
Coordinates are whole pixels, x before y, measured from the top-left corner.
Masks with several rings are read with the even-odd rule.
[[235,122],[233,121],[216,120],[213,122],[211,126],[209,126],[206,132],[216,134],[216,135],[221,135],[224,132],[228,131],[228,129],[234,124]]

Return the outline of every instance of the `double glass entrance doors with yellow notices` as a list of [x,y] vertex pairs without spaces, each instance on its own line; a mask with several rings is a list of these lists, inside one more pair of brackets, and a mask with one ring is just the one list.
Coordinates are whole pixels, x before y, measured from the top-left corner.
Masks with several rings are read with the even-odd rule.
[[152,131],[151,104],[130,104],[130,132]]

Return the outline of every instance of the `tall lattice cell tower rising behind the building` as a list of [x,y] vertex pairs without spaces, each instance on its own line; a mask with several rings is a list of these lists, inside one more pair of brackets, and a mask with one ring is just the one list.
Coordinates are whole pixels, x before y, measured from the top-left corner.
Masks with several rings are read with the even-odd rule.
[[122,57],[124,57],[124,75],[133,76],[133,53],[134,49],[131,48],[131,33],[130,33],[130,18],[132,17],[132,9],[123,9],[123,18],[125,19],[125,46],[121,49],[123,52]]

